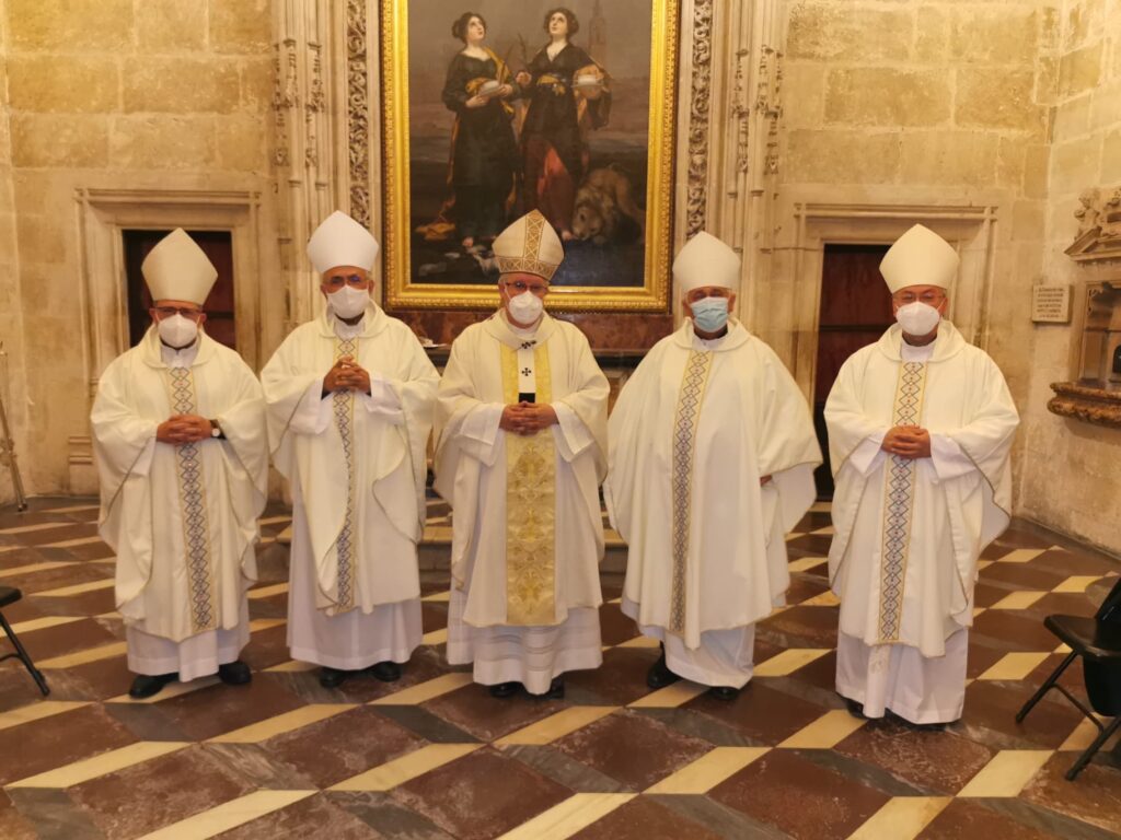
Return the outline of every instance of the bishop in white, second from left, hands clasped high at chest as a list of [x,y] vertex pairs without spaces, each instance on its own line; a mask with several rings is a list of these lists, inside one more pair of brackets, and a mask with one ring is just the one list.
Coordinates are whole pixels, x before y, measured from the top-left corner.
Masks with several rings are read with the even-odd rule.
[[269,445],[291,487],[291,656],[325,688],[391,682],[420,644],[417,543],[438,375],[413,330],[370,297],[378,243],[343,213],[307,254],[324,312],[261,372]]

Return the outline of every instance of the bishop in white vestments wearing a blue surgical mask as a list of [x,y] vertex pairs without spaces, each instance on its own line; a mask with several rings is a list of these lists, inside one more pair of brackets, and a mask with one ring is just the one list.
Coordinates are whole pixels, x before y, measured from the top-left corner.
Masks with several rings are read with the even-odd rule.
[[784,536],[814,501],[822,458],[794,379],[729,317],[735,253],[700,233],[674,281],[689,317],[619,394],[604,497],[629,548],[623,612],[663,646],[647,682],[684,676],[733,700],[756,622],[785,603]]

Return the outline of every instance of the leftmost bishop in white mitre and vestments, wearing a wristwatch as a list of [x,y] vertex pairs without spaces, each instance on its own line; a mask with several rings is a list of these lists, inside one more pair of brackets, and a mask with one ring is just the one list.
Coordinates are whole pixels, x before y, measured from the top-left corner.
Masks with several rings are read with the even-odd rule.
[[268,483],[260,384],[200,329],[217,271],[183,230],[140,270],[152,326],[105,368],[91,416],[100,533],[117,554],[138,699],[176,678],[249,682],[238,655]]

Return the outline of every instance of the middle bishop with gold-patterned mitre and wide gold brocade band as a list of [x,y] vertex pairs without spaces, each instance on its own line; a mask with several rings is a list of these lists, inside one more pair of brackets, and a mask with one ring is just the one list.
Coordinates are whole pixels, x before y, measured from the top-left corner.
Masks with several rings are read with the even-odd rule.
[[543,309],[564,258],[534,211],[494,240],[502,308],[452,345],[436,489],[453,508],[447,659],[495,697],[563,697],[599,666],[599,486],[608,381],[576,327]]

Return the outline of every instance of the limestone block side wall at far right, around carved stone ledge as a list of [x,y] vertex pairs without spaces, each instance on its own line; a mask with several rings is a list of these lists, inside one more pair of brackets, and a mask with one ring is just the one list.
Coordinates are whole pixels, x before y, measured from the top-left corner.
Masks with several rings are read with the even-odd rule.
[[[1075,306],[1090,280],[1121,280],[1121,265],[1077,264],[1064,253],[1075,239],[1078,194],[1121,186],[1121,2],[1077,0],[1063,7],[1055,73],[1054,144],[1043,250],[1048,283],[1072,283]],[[1035,327],[1029,398],[1021,403],[1025,442],[1020,512],[1121,553],[1121,431],[1047,411],[1049,383],[1076,375],[1078,318]]]

